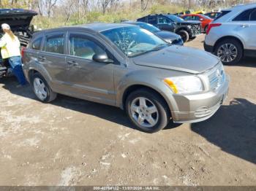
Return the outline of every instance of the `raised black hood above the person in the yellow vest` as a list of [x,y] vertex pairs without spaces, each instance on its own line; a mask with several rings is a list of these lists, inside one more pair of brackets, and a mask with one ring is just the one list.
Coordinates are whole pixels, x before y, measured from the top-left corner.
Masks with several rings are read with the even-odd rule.
[[35,15],[37,12],[26,9],[0,9],[0,25],[8,23],[12,31],[26,30]]

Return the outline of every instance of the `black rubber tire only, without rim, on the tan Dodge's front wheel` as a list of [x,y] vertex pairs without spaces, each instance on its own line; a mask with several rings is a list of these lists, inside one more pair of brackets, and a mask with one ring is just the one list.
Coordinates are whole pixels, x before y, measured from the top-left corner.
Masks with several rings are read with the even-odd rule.
[[[131,112],[131,104],[132,101],[135,100],[136,98],[146,98],[149,101],[151,101],[156,107],[157,111],[159,114],[157,124],[154,125],[151,128],[144,127],[140,125],[136,120],[132,117],[132,112]],[[170,122],[170,109],[167,106],[166,102],[163,100],[163,98],[157,94],[152,92],[152,90],[148,90],[147,88],[142,88],[140,90],[135,90],[134,92],[130,93],[127,97],[126,100],[126,112],[129,117],[129,120],[139,129],[142,130],[143,132],[146,133],[154,133],[159,130],[162,130],[165,128]]]

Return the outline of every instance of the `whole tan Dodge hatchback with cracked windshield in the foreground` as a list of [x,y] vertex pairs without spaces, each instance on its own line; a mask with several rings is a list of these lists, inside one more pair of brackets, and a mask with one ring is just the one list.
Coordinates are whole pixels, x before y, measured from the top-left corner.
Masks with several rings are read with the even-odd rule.
[[128,24],[91,24],[40,31],[23,71],[42,102],[57,93],[126,110],[140,130],[211,117],[229,79],[214,55],[170,45]]

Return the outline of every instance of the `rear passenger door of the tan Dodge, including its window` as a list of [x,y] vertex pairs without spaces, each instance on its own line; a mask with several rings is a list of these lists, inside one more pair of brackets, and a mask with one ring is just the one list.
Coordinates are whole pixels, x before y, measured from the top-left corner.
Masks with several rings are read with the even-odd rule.
[[58,93],[67,87],[66,38],[67,32],[45,34],[42,51],[37,54],[37,60],[49,74],[52,88]]

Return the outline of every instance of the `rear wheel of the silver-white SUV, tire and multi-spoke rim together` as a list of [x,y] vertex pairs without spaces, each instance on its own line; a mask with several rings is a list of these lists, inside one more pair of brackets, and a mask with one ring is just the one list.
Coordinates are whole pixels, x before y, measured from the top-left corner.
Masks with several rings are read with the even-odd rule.
[[[234,49],[231,48],[231,45],[234,47]],[[225,46],[227,46],[228,50],[232,50],[231,52],[236,52],[235,58],[230,55],[232,59],[227,59],[228,54],[225,54]],[[216,45],[216,47],[214,48],[214,54],[221,59],[223,64],[233,65],[241,61],[241,58],[243,58],[244,55],[244,50],[242,44],[236,39],[224,39]]]

